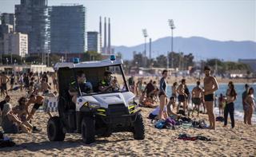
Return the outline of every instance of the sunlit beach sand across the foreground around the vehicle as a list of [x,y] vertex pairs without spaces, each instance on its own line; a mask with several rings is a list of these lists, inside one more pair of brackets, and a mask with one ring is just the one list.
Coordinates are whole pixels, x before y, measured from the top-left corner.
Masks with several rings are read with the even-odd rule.
[[[17,104],[19,96],[25,92],[11,92],[12,104]],[[146,128],[146,139],[134,140],[130,132],[114,133],[110,137],[97,138],[95,143],[82,143],[81,135],[66,134],[63,142],[50,142],[46,125],[48,116],[36,113],[33,124],[42,128],[40,133],[28,135],[6,134],[17,146],[0,148],[1,156],[256,156],[256,126],[247,126],[236,121],[234,129],[222,128],[217,122],[216,130],[196,128],[176,128],[176,130],[154,128],[147,120],[150,108],[141,108]],[[206,118],[206,115],[200,116]],[[178,134],[204,135],[213,141],[183,141]]]

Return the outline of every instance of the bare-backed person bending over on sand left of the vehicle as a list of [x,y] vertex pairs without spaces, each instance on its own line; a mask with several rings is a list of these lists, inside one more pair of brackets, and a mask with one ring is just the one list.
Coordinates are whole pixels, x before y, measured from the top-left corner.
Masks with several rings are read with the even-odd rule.
[[[34,106],[31,112],[29,113],[29,116],[27,117],[26,121],[29,121],[34,116],[34,113],[38,110],[40,106],[42,106],[43,101],[44,101],[44,96],[31,94],[30,100],[28,100],[28,102],[26,103],[26,111],[28,112],[28,108],[30,104],[34,104]],[[47,113],[50,117],[52,117],[50,112],[47,112]]]

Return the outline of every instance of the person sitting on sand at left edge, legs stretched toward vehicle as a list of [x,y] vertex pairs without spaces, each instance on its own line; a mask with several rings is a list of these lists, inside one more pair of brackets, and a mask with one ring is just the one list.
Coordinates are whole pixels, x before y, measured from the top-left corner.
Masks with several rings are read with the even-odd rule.
[[23,132],[31,132],[31,128],[26,126],[26,124],[22,123],[22,121],[19,120],[18,116],[14,114],[11,105],[9,103],[6,103],[2,110],[3,131],[5,131],[6,133],[16,134],[19,132],[19,128],[21,128]]

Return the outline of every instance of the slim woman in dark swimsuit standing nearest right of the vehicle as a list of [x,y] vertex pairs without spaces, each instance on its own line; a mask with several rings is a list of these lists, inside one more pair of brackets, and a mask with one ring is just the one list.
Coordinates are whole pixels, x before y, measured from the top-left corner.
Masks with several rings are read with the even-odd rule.
[[166,89],[167,89],[167,83],[166,83],[166,77],[168,76],[168,71],[163,70],[162,71],[162,78],[160,80],[160,85],[159,85],[159,100],[160,100],[160,109],[159,109],[159,114],[158,114],[158,120],[162,120],[162,115],[163,109],[166,106]]

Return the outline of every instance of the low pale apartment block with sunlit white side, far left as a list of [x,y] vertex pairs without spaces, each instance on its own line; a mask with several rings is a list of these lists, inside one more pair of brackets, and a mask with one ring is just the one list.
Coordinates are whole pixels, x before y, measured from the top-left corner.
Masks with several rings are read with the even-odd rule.
[[3,37],[3,53],[25,57],[28,53],[28,36],[23,33],[5,33]]

